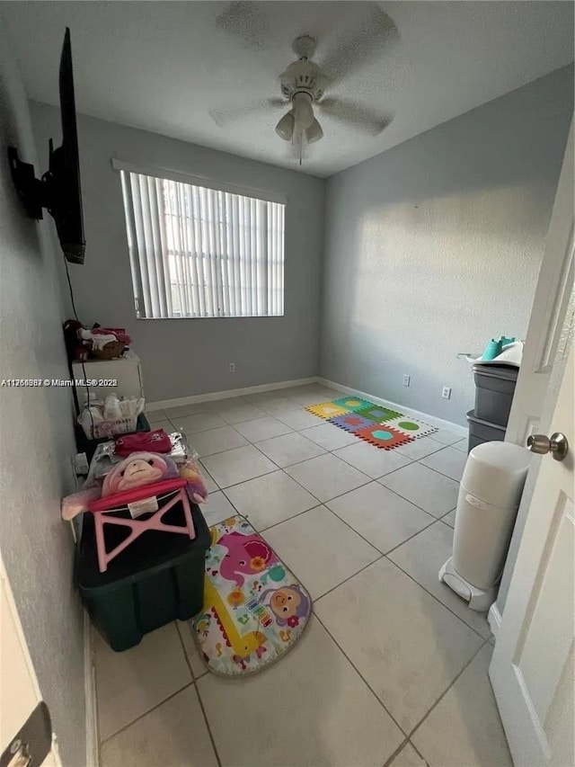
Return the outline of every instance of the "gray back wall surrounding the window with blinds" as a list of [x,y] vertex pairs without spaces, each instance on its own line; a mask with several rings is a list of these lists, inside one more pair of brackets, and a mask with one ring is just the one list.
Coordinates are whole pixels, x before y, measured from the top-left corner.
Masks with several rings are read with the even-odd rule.
[[[59,113],[40,103],[31,111],[45,158],[49,137],[60,136]],[[128,328],[142,359],[147,399],[316,375],[323,180],[83,115],[78,133],[87,245],[84,265],[70,269],[76,307],[84,322]],[[285,316],[137,320],[121,185],[111,157],[287,196]]]

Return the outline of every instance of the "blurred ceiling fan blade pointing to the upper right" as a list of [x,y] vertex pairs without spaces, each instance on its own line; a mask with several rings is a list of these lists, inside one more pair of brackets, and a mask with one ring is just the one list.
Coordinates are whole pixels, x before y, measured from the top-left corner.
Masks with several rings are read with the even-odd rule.
[[322,68],[332,84],[341,83],[376,59],[385,47],[399,39],[399,31],[391,16],[376,4],[355,33],[341,34],[336,47],[323,59]]

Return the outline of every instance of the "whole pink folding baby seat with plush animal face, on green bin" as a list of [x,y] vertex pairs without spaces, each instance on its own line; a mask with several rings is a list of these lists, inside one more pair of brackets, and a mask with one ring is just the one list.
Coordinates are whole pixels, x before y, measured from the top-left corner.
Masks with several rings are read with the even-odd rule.
[[[98,566],[100,572],[125,548],[148,530],[175,532],[196,537],[190,500],[203,503],[208,491],[195,461],[189,459],[178,468],[169,456],[153,452],[134,452],[116,464],[104,477],[102,489],[87,488],[68,495],[62,502],[66,520],[77,513],[93,513]],[[164,515],[181,504],[184,523],[164,522]],[[108,550],[105,528],[127,527],[128,537]]]

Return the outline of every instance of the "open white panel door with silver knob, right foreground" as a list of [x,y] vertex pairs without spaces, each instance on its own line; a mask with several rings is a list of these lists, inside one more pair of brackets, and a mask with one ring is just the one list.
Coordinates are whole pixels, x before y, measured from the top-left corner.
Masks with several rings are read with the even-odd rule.
[[571,342],[549,434],[569,452],[541,458],[490,666],[516,767],[575,764],[574,364]]

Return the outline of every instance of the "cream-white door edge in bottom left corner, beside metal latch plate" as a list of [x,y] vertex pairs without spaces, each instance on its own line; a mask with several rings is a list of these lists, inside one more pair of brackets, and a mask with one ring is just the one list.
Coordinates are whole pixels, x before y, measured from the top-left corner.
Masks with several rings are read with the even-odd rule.
[[[31,664],[12,591],[0,560],[0,754],[12,742],[33,709],[40,702],[40,689]],[[44,767],[60,762],[53,749]]]

